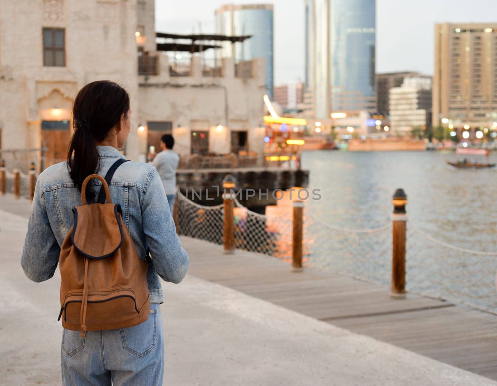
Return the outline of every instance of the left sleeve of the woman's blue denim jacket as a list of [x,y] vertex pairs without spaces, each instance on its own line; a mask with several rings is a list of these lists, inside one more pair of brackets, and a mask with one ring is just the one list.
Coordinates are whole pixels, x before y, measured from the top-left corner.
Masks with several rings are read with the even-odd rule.
[[60,247],[48,220],[38,180],[22,250],[21,267],[24,274],[33,282],[43,282],[50,279],[57,269],[59,254]]

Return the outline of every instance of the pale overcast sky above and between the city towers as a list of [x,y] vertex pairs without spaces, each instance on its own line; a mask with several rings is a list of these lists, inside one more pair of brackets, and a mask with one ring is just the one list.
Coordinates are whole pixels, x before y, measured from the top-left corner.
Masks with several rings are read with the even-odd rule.
[[[223,0],[156,0],[161,32],[215,32]],[[274,4],[274,84],[304,80],[304,0],[231,1]],[[497,0],[376,0],[376,72],[433,74],[434,23],[497,22]],[[200,24],[199,24],[200,23]]]

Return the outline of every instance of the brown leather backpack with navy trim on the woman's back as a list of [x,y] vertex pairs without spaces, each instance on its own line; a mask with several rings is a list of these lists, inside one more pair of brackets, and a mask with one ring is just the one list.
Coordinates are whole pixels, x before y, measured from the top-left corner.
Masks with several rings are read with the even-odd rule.
[[[116,162],[119,166],[123,161]],[[115,165],[116,165],[115,164]],[[113,330],[131,327],[150,314],[147,272],[122,219],[119,204],[110,200],[110,178],[92,174],[83,182],[82,206],[73,208],[74,225],[61,247],[62,326],[69,330]],[[99,197],[106,203],[86,203],[86,185],[92,179],[102,182]],[[103,201],[103,199],[102,199]]]

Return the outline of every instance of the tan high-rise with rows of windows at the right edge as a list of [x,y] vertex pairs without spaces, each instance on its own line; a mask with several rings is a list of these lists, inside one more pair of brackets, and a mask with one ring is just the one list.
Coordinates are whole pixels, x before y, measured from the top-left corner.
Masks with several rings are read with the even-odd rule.
[[433,126],[497,121],[497,24],[435,24]]

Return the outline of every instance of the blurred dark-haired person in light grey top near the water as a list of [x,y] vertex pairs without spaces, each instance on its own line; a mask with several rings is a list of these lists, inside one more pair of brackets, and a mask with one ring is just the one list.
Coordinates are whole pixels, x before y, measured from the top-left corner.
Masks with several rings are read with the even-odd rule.
[[172,135],[164,134],[161,137],[162,151],[152,161],[152,165],[159,171],[171,213],[176,198],[176,170],[179,164],[179,156],[172,151],[173,146],[174,138]]

